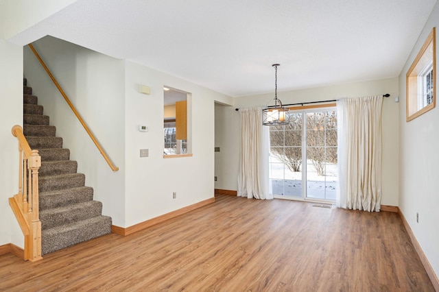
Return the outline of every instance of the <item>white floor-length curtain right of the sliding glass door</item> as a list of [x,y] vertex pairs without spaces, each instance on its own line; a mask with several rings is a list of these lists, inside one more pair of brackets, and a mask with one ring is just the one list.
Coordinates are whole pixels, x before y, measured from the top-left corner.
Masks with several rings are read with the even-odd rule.
[[382,96],[340,99],[337,207],[381,209]]

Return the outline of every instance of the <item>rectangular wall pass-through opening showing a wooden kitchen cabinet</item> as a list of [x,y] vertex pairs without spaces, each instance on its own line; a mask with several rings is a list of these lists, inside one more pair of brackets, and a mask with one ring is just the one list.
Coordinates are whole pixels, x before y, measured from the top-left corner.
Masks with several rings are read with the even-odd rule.
[[191,156],[188,143],[188,93],[164,86],[163,96],[163,157]]

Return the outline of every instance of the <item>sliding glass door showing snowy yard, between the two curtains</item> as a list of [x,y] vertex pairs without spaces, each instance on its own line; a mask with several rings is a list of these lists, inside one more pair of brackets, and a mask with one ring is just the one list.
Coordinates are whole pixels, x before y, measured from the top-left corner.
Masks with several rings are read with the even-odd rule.
[[296,111],[289,125],[270,126],[270,191],[275,197],[335,200],[337,112]]

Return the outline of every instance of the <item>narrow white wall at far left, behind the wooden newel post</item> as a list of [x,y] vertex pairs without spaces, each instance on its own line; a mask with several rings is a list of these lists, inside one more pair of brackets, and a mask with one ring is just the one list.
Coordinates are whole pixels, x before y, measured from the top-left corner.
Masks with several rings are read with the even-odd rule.
[[18,141],[13,125],[23,124],[23,48],[0,39],[0,245],[23,247],[24,237],[8,204],[18,192]]

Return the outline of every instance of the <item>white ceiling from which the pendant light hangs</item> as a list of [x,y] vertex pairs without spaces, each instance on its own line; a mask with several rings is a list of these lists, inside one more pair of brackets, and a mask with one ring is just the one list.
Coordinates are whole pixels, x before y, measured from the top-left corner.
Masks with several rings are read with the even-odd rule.
[[[396,77],[436,0],[78,0],[47,34],[233,97]],[[171,84],[169,84],[171,85]]]

